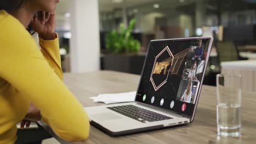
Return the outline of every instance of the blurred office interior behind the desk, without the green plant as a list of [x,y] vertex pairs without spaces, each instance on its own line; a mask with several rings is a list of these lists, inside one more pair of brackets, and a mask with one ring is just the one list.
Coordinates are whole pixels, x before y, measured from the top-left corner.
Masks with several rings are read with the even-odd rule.
[[[99,69],[140,74],[152,39],[214,37],[205,84],[215,85],[221,62],[256,59],[255,0],[62,0],[57,27],[66,72]],[[135,20],[138,52],[106,48],[110,31]],[[196,44],[195,44],[196,45]],[[63,50],[62,49],[62,50]]]

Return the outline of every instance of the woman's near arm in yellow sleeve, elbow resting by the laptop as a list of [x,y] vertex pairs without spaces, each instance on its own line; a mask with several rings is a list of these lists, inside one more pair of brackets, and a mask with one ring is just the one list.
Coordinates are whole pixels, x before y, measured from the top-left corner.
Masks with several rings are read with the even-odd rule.
[[83,106],[45,61],[25,28],[2,29],[0,39],[0,77],[31,100],[41,110],[43,121],[62,139],[88,139],[90,125]]

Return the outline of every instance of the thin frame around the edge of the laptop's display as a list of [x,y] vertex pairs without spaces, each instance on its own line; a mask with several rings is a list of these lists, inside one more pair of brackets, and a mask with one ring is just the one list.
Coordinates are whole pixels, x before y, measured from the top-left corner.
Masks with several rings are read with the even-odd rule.
[[[141,80],[142,80],[142,75],[143,75],[144,67],[145,67],[145,65],[146,65],[146,61],[147,61],[147,58],[148,58],[148,52],[149,52],[149,49],[150,49],[150,46],[151,46],[152,42],[156,42],[156,41],[159,42],[159,41],[166,41],[166,40],[169,41],[169,40],[194,40],[194,39],[210,39],[210,43],[209,43],[209,45],[208,45],[208,51],[207,51],[207,56],[206,56],[206,59],[205,59],[206,62],[205,62],[205,68],[203,69],[202,80],[201,80],[201,82],[200,82],[199,90],[198,90],[197,95],[196,95],[196,100],[195,100],[195,106],[194,106],[194,110],[193,110],[193,115],[192,115],[192,116],[188,116],[188,115],[184,115],[183,113],[179,113],[179,112],[172,111],[172,110],[167,110],[167,109],[164,109],[164,108],[162,108],[162,107],[158,107],[158,106],[154,106],[154,105],[142,103],[142,102],[140,102],[140,101],[136,101],[137,93],[138,93],[138,90],[139,90],[139,86],[141,85]],[[200,97],[200,93],[201,93],[201,88],[202,88],[202,83],[203,83],[203,79],[204,79],[204,76],[205,76],[205,71],[206,71],[207,64],[208,64],[208,59],[209,59],[209,57],[210,57],[210,52],[211,52],[211,49],[212,49],[212,41],[213,41],[213,38],[212,38],[212,37],[193,37],[193,38],[178,38],[178,39],[150,40],[149,45],[148,45],[147,54],[146,54],[146,57],[145,57],[145,59],[144,59],[144,64],[143,64],[143,68],[142,68],[142,71],[141,71],[141,78],[139,79],[139,83],[138,83],[138,87],[137,87],[136,96],[135,96],[135,100],[134,100],[134,101],[136,101],[136,103],[139,103],[139,104],[143,104],[143,105],[155,107],[156,109],[161,109],[161,110],[164,110],[164,111],[176,113],[177,115],[181,115],[181,116],[183,116],[183,117],[189,118],[189,119],[190,119],[190,122],[193,122],[194,117],[195,117],[195,111],[196,111],[197,103],[198,103],[198,100],[199,100],[199,97]]]

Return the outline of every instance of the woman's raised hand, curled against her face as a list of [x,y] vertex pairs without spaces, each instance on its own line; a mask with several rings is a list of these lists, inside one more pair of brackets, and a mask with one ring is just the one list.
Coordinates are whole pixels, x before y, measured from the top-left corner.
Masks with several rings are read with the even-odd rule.
[[36,31],[39,34],[40,38],[44,40],[55,39],[55,13],[38,11],[37,14],[34,15],[33,20],[30,23],[30,26],[32,27],[32,29],[34,29],[34,31]]

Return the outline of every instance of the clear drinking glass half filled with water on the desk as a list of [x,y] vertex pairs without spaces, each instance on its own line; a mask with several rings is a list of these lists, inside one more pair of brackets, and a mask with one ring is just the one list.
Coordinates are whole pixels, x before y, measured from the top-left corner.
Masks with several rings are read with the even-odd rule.
[[241,75],[217,75],[218,135],[240,136]]

